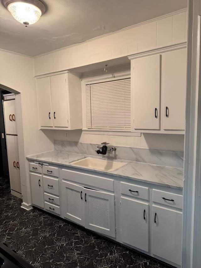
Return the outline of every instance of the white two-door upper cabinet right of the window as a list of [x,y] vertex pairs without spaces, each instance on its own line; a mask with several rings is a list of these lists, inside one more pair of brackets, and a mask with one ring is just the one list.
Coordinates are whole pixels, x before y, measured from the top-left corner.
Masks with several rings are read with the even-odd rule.
[[133,131],[184,134],[186,48],[129,58]]

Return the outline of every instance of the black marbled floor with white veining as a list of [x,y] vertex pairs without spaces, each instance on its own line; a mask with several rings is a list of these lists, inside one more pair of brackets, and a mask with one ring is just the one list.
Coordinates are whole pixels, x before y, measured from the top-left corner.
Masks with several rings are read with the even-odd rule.
[[0,242],[40,268],[168,268],[43,211],[20,208],[0,178]]

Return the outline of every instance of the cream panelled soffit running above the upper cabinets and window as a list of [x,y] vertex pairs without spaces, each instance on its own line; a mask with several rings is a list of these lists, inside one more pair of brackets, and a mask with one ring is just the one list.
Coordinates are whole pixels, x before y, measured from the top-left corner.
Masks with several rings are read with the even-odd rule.
[[102,62],[187,41],[187,11],[35,57],[35,75]]

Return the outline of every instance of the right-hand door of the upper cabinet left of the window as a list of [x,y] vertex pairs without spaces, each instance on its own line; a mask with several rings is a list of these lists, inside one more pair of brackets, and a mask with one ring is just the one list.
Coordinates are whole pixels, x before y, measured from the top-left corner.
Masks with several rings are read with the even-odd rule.
[[68,127],[68,109],[66,92],[66,75],[59,74],[50,77],[53,125]]

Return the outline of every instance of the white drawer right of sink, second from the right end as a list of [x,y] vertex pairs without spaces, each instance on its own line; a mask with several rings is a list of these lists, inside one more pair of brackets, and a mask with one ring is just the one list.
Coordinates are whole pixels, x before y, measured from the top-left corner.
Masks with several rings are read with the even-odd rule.
[[135,184],[121,182],[121,194],[127,194],[129,196],[149,200],[149,188]]

